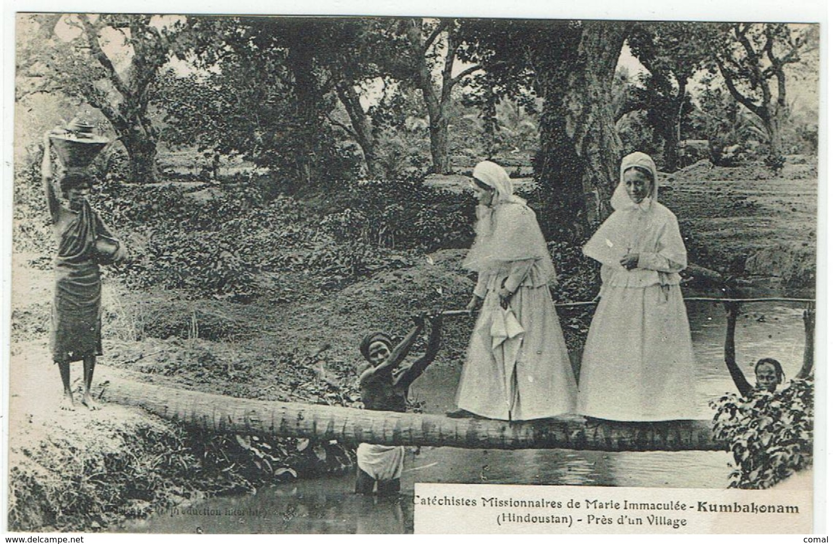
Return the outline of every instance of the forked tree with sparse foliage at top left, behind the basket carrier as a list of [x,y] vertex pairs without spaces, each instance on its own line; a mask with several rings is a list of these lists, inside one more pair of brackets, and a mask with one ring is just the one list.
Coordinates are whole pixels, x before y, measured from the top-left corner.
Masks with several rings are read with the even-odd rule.
[[18,73],[36,82],[27,92],[61,92],[97,108],[127,151],[132,181],[156,181],[158,130],[148,106],[160,68],[192,51],[194,20],[131,14],[29,17],[39,31],[17,61]]

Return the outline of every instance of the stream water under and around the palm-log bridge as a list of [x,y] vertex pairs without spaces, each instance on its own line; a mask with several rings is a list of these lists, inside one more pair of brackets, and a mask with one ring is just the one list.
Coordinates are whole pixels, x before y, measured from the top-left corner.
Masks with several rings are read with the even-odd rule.
[[[723,363],[725,314],[721,304],[690,302],[701,418],[708,403],[733,391]],[[747,304],[738,320],[736,354],[747,379],[761,357],[781,361],[788,378],[801,367],[804,328],[800,304]],[[412,387],[426,413],[453,409],[459,368],[436,365]],[[727,485],[731,456],[722,452],[604,453],[572,450],[406,448],[402,497],[352,493],[352,474],[266,487],[256,495],[214,498],[179,511],[130,522],[123,532],[165,533],[402,533],[413,530],[414,482],[515,483],[627,487]]]

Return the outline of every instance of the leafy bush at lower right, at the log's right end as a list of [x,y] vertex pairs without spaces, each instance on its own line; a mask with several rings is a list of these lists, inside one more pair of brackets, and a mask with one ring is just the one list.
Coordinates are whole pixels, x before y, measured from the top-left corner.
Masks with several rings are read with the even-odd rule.
[[812,379],[794,379],[776,393],[728,394],[711,406],[715,438],[735,458],[729,487],[766,489],[812,465]]

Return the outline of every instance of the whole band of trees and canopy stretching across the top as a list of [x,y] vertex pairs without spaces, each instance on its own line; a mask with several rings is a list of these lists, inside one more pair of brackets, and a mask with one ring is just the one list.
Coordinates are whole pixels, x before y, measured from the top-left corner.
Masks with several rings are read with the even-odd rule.
[[[673,171],[686,135],[747,137],[710,121],[740,105],[781,153],[789,70],[818,47],[817,26],[781,23],[21,17],[18,99],[50,93],[100,111],[132,181],[157,179],[159,143],[196,147],[215,176],[234,156],[297,185],[492,158],[533,167],[542,225],[563,240],[609,213],[620,130],[661,141]],[[625,45],[646,69],[638,82],[620,65]],[[641,121],[617,128],[629,111]],[[802,130],[791,137],[811,139]]]

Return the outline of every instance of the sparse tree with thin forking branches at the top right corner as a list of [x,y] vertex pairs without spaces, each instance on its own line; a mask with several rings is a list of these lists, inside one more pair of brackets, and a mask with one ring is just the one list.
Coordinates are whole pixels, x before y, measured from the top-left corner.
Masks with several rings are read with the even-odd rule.
[[761,119],[770,151],[779,156],[781,130],[789,114],[786,69],[816,51],[818,25],[736,22],[719,29],[716,68],[731,96]]

